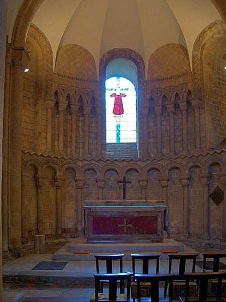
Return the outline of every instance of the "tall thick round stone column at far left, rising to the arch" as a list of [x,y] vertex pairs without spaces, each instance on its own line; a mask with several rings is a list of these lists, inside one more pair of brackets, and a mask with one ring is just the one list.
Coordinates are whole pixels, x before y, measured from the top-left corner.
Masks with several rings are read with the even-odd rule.
[[21,249],[21,166],[22,166],[22,104],[24,68],[28,66],[29,56],[24,49],[14,49],[12,58],[12,89],[10,112],[10,237],[11,244]]

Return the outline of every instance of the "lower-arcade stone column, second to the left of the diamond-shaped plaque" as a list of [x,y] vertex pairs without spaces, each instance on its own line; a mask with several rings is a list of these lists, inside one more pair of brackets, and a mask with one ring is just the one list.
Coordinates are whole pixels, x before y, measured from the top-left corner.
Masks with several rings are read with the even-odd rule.
[[188,237],[190,234],[190,210],[188,205],[188,187],[189,187],[190,176],[182,176],[180,183],[183,187],[183,217],[184,217],[184,236]]

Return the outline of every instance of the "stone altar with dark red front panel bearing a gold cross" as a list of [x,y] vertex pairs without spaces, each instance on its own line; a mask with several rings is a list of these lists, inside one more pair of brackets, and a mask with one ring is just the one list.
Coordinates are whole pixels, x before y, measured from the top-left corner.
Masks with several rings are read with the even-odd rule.
[[93,200],[83,209],[87,242],[163,242],[167,206],[162,200]]

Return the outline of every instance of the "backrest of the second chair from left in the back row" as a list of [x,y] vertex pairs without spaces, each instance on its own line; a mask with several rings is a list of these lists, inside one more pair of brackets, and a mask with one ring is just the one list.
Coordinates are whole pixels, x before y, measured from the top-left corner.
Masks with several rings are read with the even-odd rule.
[[149,274],[149,261],[154,260],[156,265],[156,274],[159,273],[160,254],[131,254],[132,270],[136,273],[136,260],[142,261],[142,274]]

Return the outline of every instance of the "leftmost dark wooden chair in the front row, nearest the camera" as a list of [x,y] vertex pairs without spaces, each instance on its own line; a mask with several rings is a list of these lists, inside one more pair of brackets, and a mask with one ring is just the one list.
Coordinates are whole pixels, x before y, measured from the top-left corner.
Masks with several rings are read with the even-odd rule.
[[[131,277],[133,276],[132,272],[128,273],[118,273],[118,274],[94,274],[95,279],[95,294],[91,297],[90,302],[129,302],[130,301],[130,286],[131,286]],[[102,280],[108,282],[108,292],[103,293],[99,292],[100,284]],[[118,293],[118,282],[126,283],[126,294],[120,289]]]

